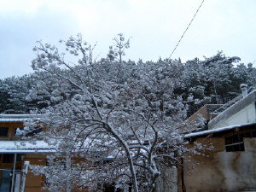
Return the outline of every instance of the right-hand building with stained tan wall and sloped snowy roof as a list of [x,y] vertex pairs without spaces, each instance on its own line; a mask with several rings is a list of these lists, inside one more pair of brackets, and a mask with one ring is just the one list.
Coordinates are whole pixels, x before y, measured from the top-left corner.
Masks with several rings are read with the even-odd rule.
[[202,149],[185,155],[179,192],[256,191],[256,90],[242,95],[214,111],[204,110],[203,116],[214,116],[207,130],[185,136],[189,147],[200,143]]

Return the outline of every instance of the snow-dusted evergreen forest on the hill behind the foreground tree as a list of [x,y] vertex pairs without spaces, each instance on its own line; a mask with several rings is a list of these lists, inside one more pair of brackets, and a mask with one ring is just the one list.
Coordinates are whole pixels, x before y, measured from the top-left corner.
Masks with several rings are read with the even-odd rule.
[[[112,46],[110,48],[107,58],[92,63],[92,58],[88,56],[83,62],[86,64],[87,61],[87,67],[100,67],[109,78],[119,79],[120,84],[127,83],[127,79],[140,79],[140,76],[145,74],[155,83],[161,84],[163,90],[166,89],[165,86],[172,87],[173,98],[181,96],[183,100],[189,99],[188,115],[206,103],[228,102],[241,93],[239,90],[241,83],[246,83],[249,87],[255,84],[256,69],[252,63],[245,65],[239,62],[238,56],[228,57],[221,51],[212,57],[205,57],[202,61],[198,58],[185,62],[180,59],[160,58],[156,62],[121,61],[122,65],[120,65],[119,57],[123,53],[119,55],[114,53]],[[86,49],[92,52],[89,51],[89,46]],[[71,50],[70,53],[73,51]],[[78,66],[73,64],[73,67]],[[118,73],[120,67],[124,70],[122,73]],[[70,70],[63,69],[63,73],[68,73]],[[79,70],[83,69],[79,68]],[[0,113],[29,113],[36,108],[50,106],[53,101],[48,90],[44,90],[42,96],[38,96],[37,99],[29,96],[32,89],[40,86],[38,83],[40,80],[49,80],[47,79],[49,75],[50,72],[35,70],[34,73],[22,77],[0,79]],[[162,97],[163,90],[154,90],[152,101]]]

